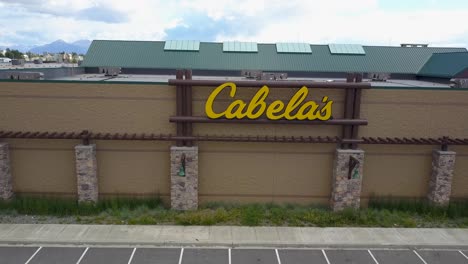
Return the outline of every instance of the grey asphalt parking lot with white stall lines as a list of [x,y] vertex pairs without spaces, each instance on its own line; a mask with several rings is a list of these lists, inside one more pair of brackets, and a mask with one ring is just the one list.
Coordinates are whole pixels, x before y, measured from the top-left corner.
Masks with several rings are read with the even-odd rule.
[[1,264],[468,263],[456,249],[253,249],[1,246]]

